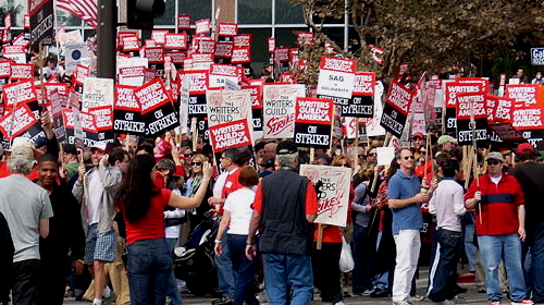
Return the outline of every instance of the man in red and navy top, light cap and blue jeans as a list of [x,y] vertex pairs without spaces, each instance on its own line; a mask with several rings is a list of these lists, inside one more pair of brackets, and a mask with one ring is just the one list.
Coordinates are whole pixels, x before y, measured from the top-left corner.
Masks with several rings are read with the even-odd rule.
[[523,192],[516,178],[503,172],[505,160],[500,152],[490,152],[485,161],[487,173],[472,181],[465,195],[465,206],[475,210],[475,229],[485,270],[489,305],[499,305],[503,297],[498,281],[500,260],[508,274],[511,304],[533,304],[526,300],[521,266],[520,241],[526,240]]

